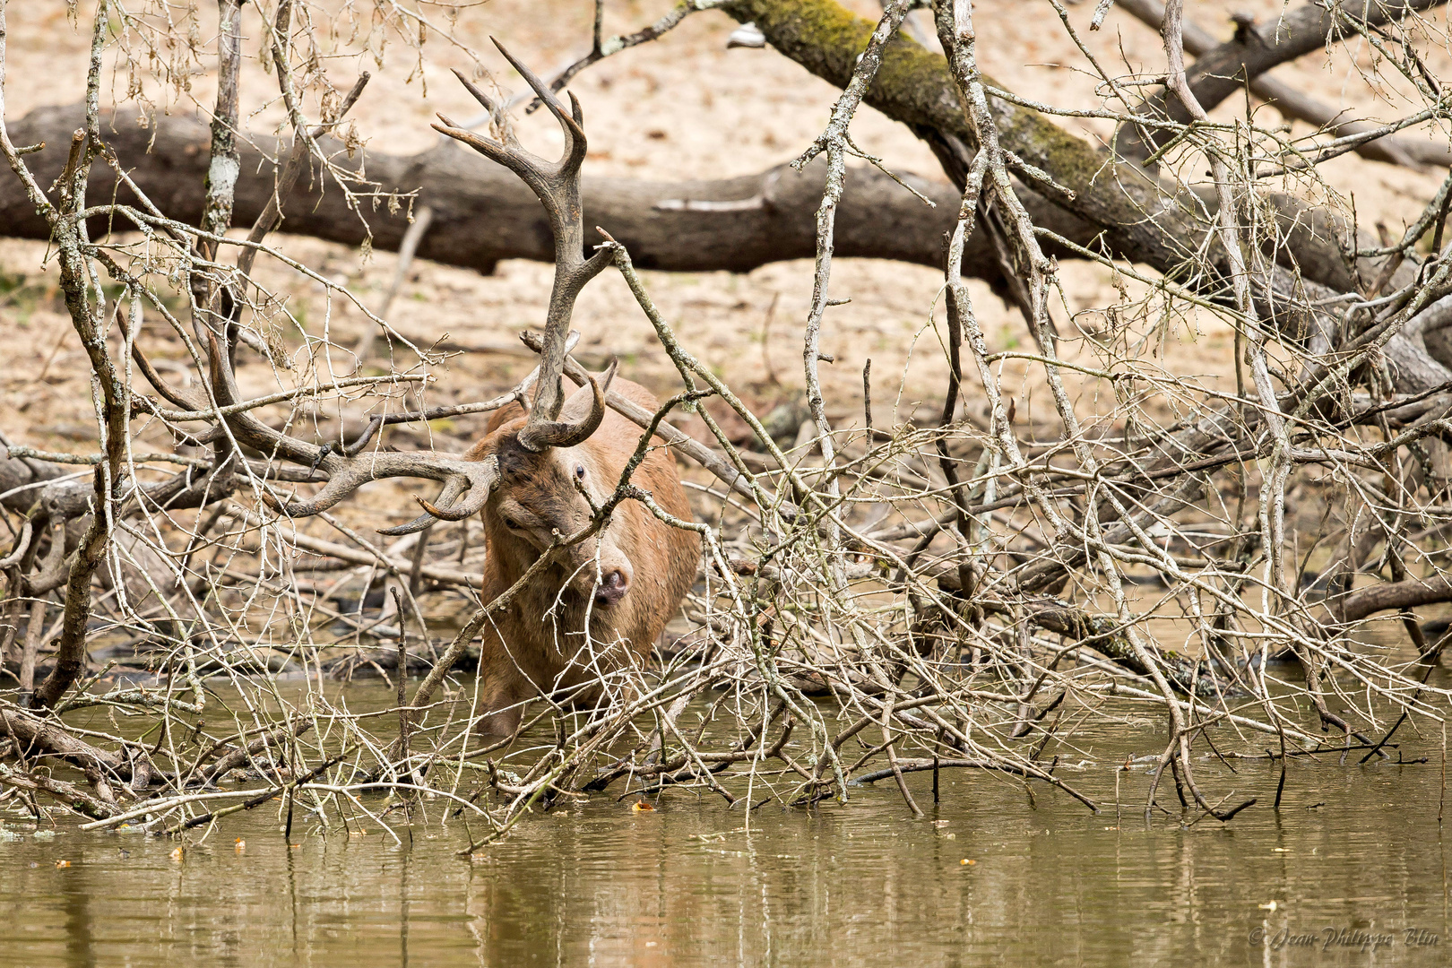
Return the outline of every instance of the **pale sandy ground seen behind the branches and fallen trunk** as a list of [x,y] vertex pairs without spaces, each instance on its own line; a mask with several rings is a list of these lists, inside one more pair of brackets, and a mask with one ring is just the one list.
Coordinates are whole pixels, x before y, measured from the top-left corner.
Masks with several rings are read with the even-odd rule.
[[[89,4],[81,4],[83,7]],[[202,7],[209,7],[203,3]],[[379,9],[388,4],[379,4]],[[411,6],[411,4],[409,4]],[[605,32],[633,30],[650,22],[669,4],[607,3]],[[851,7],[874,16],[874,3],[854,0]],[[1275,0],[1234,3],[1189,3],[1189,15],[1220,36],[1228,36],[1228,13],[1252,9],[1262,17],[1281,10]],[[373,4],[331,1],[314,4],[312,16],[324,32],[319,65],[328,81],[341,90],[351,86],[359,70],[375,80],[353,112],[359,136],[389,152],[424,149],[434,144],[428,129],[434,112],[457,118],[476,113],[472,100],[449,75],[450,67],[478,74],[486,67],[504,90],[521,87],[517,75],[488,45],[488,36],[504,39],[527,62],[553,70],[588,49],[592,4],[587,0],[524,1],[491,0],[456,7],[453,41],[430,33],[423,48],[428,58],[420,67],[417,52],[395,32],[382,57],[356,54],[379,49],[388,25],[373,16]],[[421,7],[436,25],[446,26],[449,9]],[[1127,70],[1153,74],[1163,70],[1159,38],[1138,22],[1115,10],[1104,30],[1088,32],[1093,4],[1070,7],[1080,36],[1111,73]],[[242,110],[248,128],[270,144],[282,118],[269,99],[274,81],[256,57],[260,20],[248,4],[244,28],[248,61],[242,80]],[[164,86],[144,74],[132,77],[125,58],[112,52],[107,65],[107,97],[123,94],[134,80],[152,103],[166,110],[196,110],[190,99],[211,99],[213,49],[212,26],[202,15],[197,42],[203,57],[192,62],[184,84]],[[215,22],[215,13],[211,15]],[[925,16],[925,15],[919,15]],[[1442,23],[1442,13],[1436,23]],[[60,1],[12,4],[9,41],[7,118],[48,103],[70,103],[81,96],[89,46],[84,15],[80,25],[67,17]],[[1096,78],[1086,70],[1047,0],[983,0],[976,4],[980,55],[989,73],[1002,84],[1031,97],[1063,106],[1092,106]],[[926,19],[923,20],[926,23]],[[726,177],[759,171],[790,160],[820,131],[836,90],[807,75],[770,49],[726,49],[735,23],[719,13],[690,17],[664,41],[627,51],[576,78],[572,89],[587,112],[591,151],[587,170],[620,177]],[[417,25],[407,28],[417,42]],[[331,32],[334,36],[327,36]],[[144,52],[147,32],[131,33],[131,51]],[[335,55],[330,45],[356,38],[354,54]],[[466,48],[478,52],[473,60]],[[163,57],[177,52],[160,51]],[[1429,44],[1424,51],[1435,73],[1446,77],[1449,54]],[[1128,64],[1128,67],[1125,67]],[[1391,116],[1406,107],[1395,84],[1372,89],[1365,84],[1350,54],[1313,55],[1276,71],[1279,77],[1326,100],[1339,100],[1365,116]],[[177,75],[180,77],[180,74]],[[187,90],[182,87],[189,86]],[[309,94],[315,103],[317,89]],[[1378,97],[1384,99],[1378,102]],[[1225,118],[1244,104],[1225,104]],[[1273,113],[1273,112],[1272,112]],[[1102,122],[1066,122],[1074,131],[1104,138]],[[543,112],[520,118],[521,138],[549,154],[558,132]],[[928,151],[902,126],[864,107],[854,138],[867,151],[899,171],[941,179]],[[1355,194],[1366,222],[1382,221],[1392,228],[1416,216],[1439,183],[1437,173],[1417,173],[1362,161],[1347,155],[1327,165],[1327,179],[1346,199]],[[9,176],[3,176],[9,177]],[[1374,213],[1369,218],[1368,213]],[[378,306],[392,279],[395,257],[388,253],[369,260],[337,245],[306,238],[279,237],[277,245],[324,276],[346,283],[360,299]],[[86,451],[94,447],[94,418],[90,412],[84,356],[68,321],[54,298],[54,267],[44,268],[45,247],[33,242],[0,241],[0,427],[13,438],[45,448]],[[266,263],[266,264],[263,264]],[[277,263],[263,260],[260,271],[269,284],[289,292],[290,306],[309,334],[325,332],[340,347],[351,345],[363,332],[363,316],[337,298],[328,299],[317,283],[299,283]],[[802,324],[812,292],[812,266],[793,261],[767,266],[743,276],[727,273],[646,273],[646,282],[665,315],[677,325],[682,343],[716,367],[733,386],[762,406],[794,398],[803,385]],[[1066,334],[1064,353],[1096,364],[1093,344],[1079,327],[1102,325],[1096,312],[1119,296],[1101,267],[1066,264],[1061,273],[1066,305],[1056,308]],[[550,267],[508,261],[494,276],[430,263],[415,263],[389,319],[402,332],[436,338],[444,332],[466,344],[501,344],[514,332],[543,321],[550,284]],[[822,348],[835,364],[823,366],[829,412],[835,419],[861,419],[861,369],[873,358],[874,417],[878,424],[925,418],[941,408],[945,363],[929,325],[938,300],[941,273],[873,260],[838,260],[833,266],[835,298],[851,303],[833,308],[823,331]],[[973,284],[974,305],[990,348],[1031,348],[1016,312],[1005,308],[984,286]],[[774,306],[774,309],[772,309]],[[941,316],[941,305],[938,306]],[[768,327],[770,319],[770,327]],[[1140,351],[1160,357],[1157,363],[1179,374],[1202,374],[1224,380],[1231,372],[1231,335],[1215,319],[1194,316],[1167,329],[1144,324]],[[655,341],[649,324],[635,306],[623,282],[607,273],[594,282],[579,302],[575,325],[584,347],[595,357],[620,357],[621,372],[659,393],[678,389],[674,370]],[[180,357],[180,344],[167,344],[166,334],[148,328],[158,357]],[[298,345],[298,341],[293,343]],[[346,357],[346,354],[340,354]],[[454,357],[440,370],[430,402],[481,399],[505,389],[527,363],[517,356],[476,353]],[[338,364],[341,372],[350,363]],[[1040,376],[1028,364],[1008,361],[1003,380],[1019,398],[1018,419],[1048,418],[1048,399]],[[251,364],[241,374],[244,389],[264,392],[292,374],[274,374]],[[1112,406],[1112,395],[1093,380],[1074,383],[1085,415]],[[1037,398],[1037,399],[1035,399]],[[892,411],[896,409],[896,414]],[[1159,405],[1160,411],[1167,406]],[[441,446],[462,444],[478,432],[482,419],[460,419],[439,428]],[[157,443],[163,438],[158,437]],[[404,440],[401,446],[408,446]],[[395,495],[396,496],[396,495]],[[378,498],[396,504],[393,496]],[[373,501],[370,501],[373,504]],[[398,514],[402,514],[399,511]]]

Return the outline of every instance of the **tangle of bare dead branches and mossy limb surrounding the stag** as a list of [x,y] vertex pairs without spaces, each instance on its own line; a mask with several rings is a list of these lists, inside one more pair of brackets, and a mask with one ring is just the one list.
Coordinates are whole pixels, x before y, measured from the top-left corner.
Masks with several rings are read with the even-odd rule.
[[[511,58],[565,131],[560,163],[523,152],[510,131],[513,102],[465,80],[485,107],[478,125],[488,123],[492,136],[447,119],[440,131],[539,193],[555,232],[556,290],[543,337],[526,334],[540,366],[492,399],[453,406],[423,399],[440,353],[404,340],[343,290],[392,350],[382,374],[348,369],[334,356],[337,343],[299,325],[286,293],[253,273],[266,255],[299,282],[334,290],[266,238],[305,165],[360,199],[370,190],[351,170],[330,165],[319,147],[363,81],[330,103],[318,125],[303,118],[295,80],[311,61],[295,51],[314,41],[295,33],[311,38],[312,20],[295,25],[287,0],[266,19],[295,148],[279,157],[276,206],[242,239],[225,234],[235,180],[227,160],[235,158],[238,132],[237,73],[228,73],[229,58],[241,57],[237,4],[221,3],[227,29],[211,145],[221,174],[209,180],[202,223],[192,226],[135,184],[128,187],[136,205],[87,202],[93,161],[126,181],[97,120],[112,12],[100,3],[87,126],[54,189],[33,179],[28,148],[0,128],[0,149],[52,229],[67,308],[94,376],[102,444],[99,454],[67,456],[0,441],[9,447],[0,501],[15,512],[6,518],[15,540],[0,560],[0,653],[19,682],[15,701],[0,700],[0,742],[16,760],[0,768],[0,785],[58,800],[90,817],[87,826],[144,823],[174,833],[273,801],[289,829],[299,808],[327,827],[441,803],[447,814],[485,824],[470,849],[502,837],[531,810],[668,787],[752,810],[848,801],[854,784],[893,779],[921,814],[923,791],[915,794],[908,775],[932,771],[937,791],[944,769],[982,769],[1096,808],[1044,758],[1051,745],[1073,749],[1085,723],[1140,708],[1166,723],[1146,816],[1163,808],[1167,769],[1185,810],[1230,820],[1255,800],[1227,805],[1228,794],[1198,778],[1192,750],[1220,755],[1237,737],[1263,749],[1263,737],[1275,737],[1282,765],[1320,749],[1372,758],[1406,717],[1440,718],[1448,695],[1427,676],[1442,630],[1413,608],[1452,601],[1443,570],[1452,369],[1436,335],[1452,319],[1452,241],[1443,238],[1452,179],[1400,239],[1374,241],[1321,174],[1337,154],[1446,120],[1440,83],[1417,54],[1419,32],[1432,29],[1423,15],[1439,4],[1321,4],[1289,17],[1286,30],[1318,30],[1321,39],[1298,35],[1288,49],[1361,38],[1375,52],[1366,70],[1400,74],[1408,96],[1422,99],[1376,128],[1292,138],[1255,116],[1227,122],[1211,113],[1233,91],[1212,83],[1218,75],[1208,67],[1186,67],[1180,3],[1160,13],[1131,4],[1135,16],[1159,19],[1167,64],[1143,78],[1108,73],[1069,12],[1048,1],[1101,81],[1101,106],[1037,103],[987,78],[967,0],[935,4],[945,57],[902,36],[921,6],[905,0],[884,3],[877,25],[829,0],[687,3],[614,39],[601,38],[597,17],[591,52],[553,84]],[[794,443],[772,435],[682,344],[610,226],[598,245],[582,238],[584,115],[553,90],[704,9],[754,23],[780,52],[842,87],[823,134],[797,161],[825,155],[828,173],[803,325],[809,418]],[[822,23],[835,28],[815,32]],[[1231,54],[1205,58],[1221,64]],[[1237,57],[1231,62],[1247,84],[1279,62]],[[1151,80],[1163,90],[1131,93]],[[874,387],[870,369],[861,421],[833,419],[822,387],[819,364],[831,358],[820,338],[839,305],[832,254],[845,160],[883,164],[849,134],[864,103],[912,125],[961,189],[941,308],[929,309],[947,363],[934,421],[894,414],[874,424],[870,401],[874,389],[883,399],[883,382]],[[1112,123],[1119,154],[1074,139],[1053,115]],[[1410,158],[1394,142],[1382,151]],[[1207,167],[1208,176],[1196,174]],[[1044,203],[1089,225],[1096,245],[1038,225],[1035,206]],[[97,215],[123,223],[125,234],[93,239],[87,225]],[[1002,289],[1034,351],[990,348],[963,282],[966,248],[980,234],[992,241]],[[1102,264],[1119,299],[1056,321],[1056,305],[1076,302],[1063,290],[1060,258]],[[610,270],[680,376],[653,412],[603,389],[571,356],[574,300]],[[107,295],[103,277],[119,296]],[[184,350],[189,386],[158,372],[142,345],[154,338],[142,338],[144,321],[157,321]],[[1151,353],[1169,331],[1208,327],[1233,334],[1224,385],[1175,372]],[[247,354],[277,380],[290,370],[295,386],[244,392],[238,360]],[[1034,419],[1027,405],[1018,412],[1019,396],[1005,382],[1011,364],[1047,389],[1051,417]],[[154,395],[136,389],[135,373]],[[533,403],[533,432],[563,440],[562,376],[592,385],[605,406],[642,428],[633,463],[592,502],[587,527],[556,533],[518,582],[481,601],[489,549],[469,518],[485,506],[498,467],[395,450],[385,438],[391,428]],[[709,399],[720,409],[703,406]],[[327,408],[363,427],[350,435],[338,419],[328,440],[306,438],[299,428]],[[749,444],[713,417],[726,411],[749,430]],[[713,443],[682,430],[697,418]],[[163,435],[171,441],[164,453],[136,447]],[[656,447],[671,447],[688,467],[694,520],[671,514],[632,479]],[[84,470],[65,475],[57,470],[64,464]],[[436,480],[443,491],[421,499],[430,514],[414,525],[386,530],[398,537],[392,544],[330,514],[385,477]],[[540,684],[540,695],[520,704],[513,736],[481,730],[479,715],[492,710],[481,707],[482,666],[470,676],[476,637],[515,607],[521,588],[558,566],[560,549],[594,540],[626,502],[700,541],[685,627],[678,623],[650,660],[619,663],[605,657],[616,643],[592,639],[587,624],[571,665],[590,670],[590,681]],[[338,536],[309,533],[308,520]],[[452,538],[434,537],[446,530]],[[324,586],[319,576],[330,572],[343,578]],[[360,582],[357,608],[330,608],[350,581]],[[372,591],[380,601],[369,605]],[[441,614],[449,595],[466,602],[463,612]],[[1397,612],[1400,634],[1369,636],[1363,620],[1387,611]],[[536,618],[558,621],[553,610]],[[141,656],[148,675],[103,688],[93,668],[97,639],[116,660]],[[52,641],[49,670],[36,684]],[[366,668],[396,691],[366,711],[327,697],[328,673]],[[409,676],[420,673],[409,695]],[[219,702],[231,726],[209,730],[203,714]],[[93,729],[84,710],[122,715],[128,727]],[[80,771],[84,784],[62,778],[62,766]],[[221,788],[237,771],[260,785]],[[1276,807],[1284,784],[1282,772]]]

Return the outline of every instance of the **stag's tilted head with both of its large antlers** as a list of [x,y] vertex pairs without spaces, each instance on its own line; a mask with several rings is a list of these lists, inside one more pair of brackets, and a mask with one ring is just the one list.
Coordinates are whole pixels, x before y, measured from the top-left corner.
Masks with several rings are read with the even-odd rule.
[[[533,71],[517,61],[498,41],[495,46],[560,123],[565,132],[563,155],[559,161],[549,161],[526,151],[514,136],[502,106],[495,104],[457,71],[465,87],[494,115],[501,141],[459,128],[443,115],[440,115],[443,125],[434,128],[514,171],[539,196],[550,219],[555,235],[555,284],[549,313],[543,338],[531,340],[533,334],[526,338],[526,343],[540,353],[540,366],[513,392],[515,399],[524,403],[527,387],[533,383],[537,387],[533,405],[523,417],[495,427],[494,432],[462,457],[382,448],[362,453],[385,422],[396,422],[396,418],[427,419],[427,411],[417,415],[375,417],[359,440],[334,448],[331,444],[319,447],[289,437],[253,417],[247,408],[240,408],[224,414],[225,428],[213,428],[212,435],[202,443],[221,440],[225,432],[231,432],[250,447],[308,464],[306,475],[293,475],[289,479],[311,482],[315,473],[325,475],[325,486],[308,499],[285,501],[266,489],[261,492],[261,499],[269,506],[290,518],[321,514],[369,480],[402,476],[440,480],[443,489],[436,499],[437,504],[417,498],[425,514],[405,525],[380,533],[409,534],[423,531],[436,521],[462,521],[484,512],[486,530],[498,533],[491,534],[491,554],[495,549],[499,553],[513,550],[520,556],[529,556],[533,562],[542,550],[555,546],[559,537],[578,534],[595,520],[597,509],[613,492],[614,480],[610,477],[620,473],[607,448],[590,446],[591,434],[604,419],[605,393],[614,377],[614,364],[603,380],[584,374],[585,386],[569,401],[563,398],[560,380],[568,353],[578,338],[578,334],[569,331],[575,300],[581,289],[610,264],[613,254],[601,250],[590,258],[585,257],[579,171],[585,160],[587,141],[579,102],[571,94],[571,107],[566,110]],[[235,347],[224,347],[216,334],[208,335],[209,376],[216,401],[225,406],[237,405],[244,398],[237,387],[232,369],[231,350]],[[163,396],[189,409],[206,409],[206,399],[193,399],[173,390],[151,367],[139,345],[134,348],[134,354]],[[576,382],[579,376],[575,374]],[[611,538],[608,522],[590,538],[568,546],[558,554],[569,570],[571,585],[581,594],[594,594],[598,604],[614,605],[627,594],[633,569],[629,557]]]

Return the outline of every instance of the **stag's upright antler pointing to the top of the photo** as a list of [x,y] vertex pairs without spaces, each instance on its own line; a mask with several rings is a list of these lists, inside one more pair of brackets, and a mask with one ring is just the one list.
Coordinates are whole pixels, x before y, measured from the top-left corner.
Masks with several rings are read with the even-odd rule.
[[[494,39],[494,38],[491,38]],[[520,145],[508,125],[498,125],[504,141],[484,138],[459,128],[444,115],[439,115],[443,125],[434,125],[434,131],[462,141],[486,158],[491,158],[505,168],[520,176],[539,196],[549,213],[550,229],[555,232],[555,287],[550,292],[549,315],[544,318],[544,347],[540,354],[539,390],[534,396],[534,406],[530,408],[529,427],[549,424],[559,419],[559,411],[565,403],[560,374],[565,372],[565,338],[569,334],[569,319],[575,311],[575,299],[585,284],[600,274],[610,264],[610,253],[600,251],[585,258],[585,228],[584,210],[579,202],[579,168],[585,161],[588,142],[585,141],[585,115],[579,107],[579,100],[574,93],[569,96],[571,110],[555,97],[549,86],[542,81],[524,64],[517,61],[502,44],[494,41],[499,54],[514,65],[514,70],[534,90],[539,99],[555,115],[559,126],[565,132],[565,154],[559,161],[547,161],[531,154]],[[501,116],[502,107],[494,99],[479,90],[463,74],[454,71],[459,81],[473,94],[475,100],[485,110]]]

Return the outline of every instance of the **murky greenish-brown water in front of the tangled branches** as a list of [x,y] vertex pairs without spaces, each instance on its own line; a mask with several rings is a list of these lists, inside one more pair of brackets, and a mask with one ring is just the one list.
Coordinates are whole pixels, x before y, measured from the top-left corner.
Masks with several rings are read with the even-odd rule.
[[910,776],[928,820],[889,781],[845,807],[762,807],[749,832],[742,811],[671,791],[655,813],[595,797],[526,817],[469,861],[457,821],[398,826],[402,846],[378,824],[289,846],[273,805],[176,859],[174,842],[64,823],[36,837],[10,814],[0,967],[1446,965],[1440,734],[1403,730],[1400,753],[1429,763],[1297,760],[1279,814],[1275,768],[1205,762],[1215,795],[1260,803],[1188,829],[1144,824],[1143,769],[1118,771],[1115,819],[1114,763],[1159,750],[1151,723],[1082,734],[1096,762],[1061,769],[1108,804],[1098,816],[1044,787],[1031,807],[982,772],[945,774],[937,808],[929,775]]

